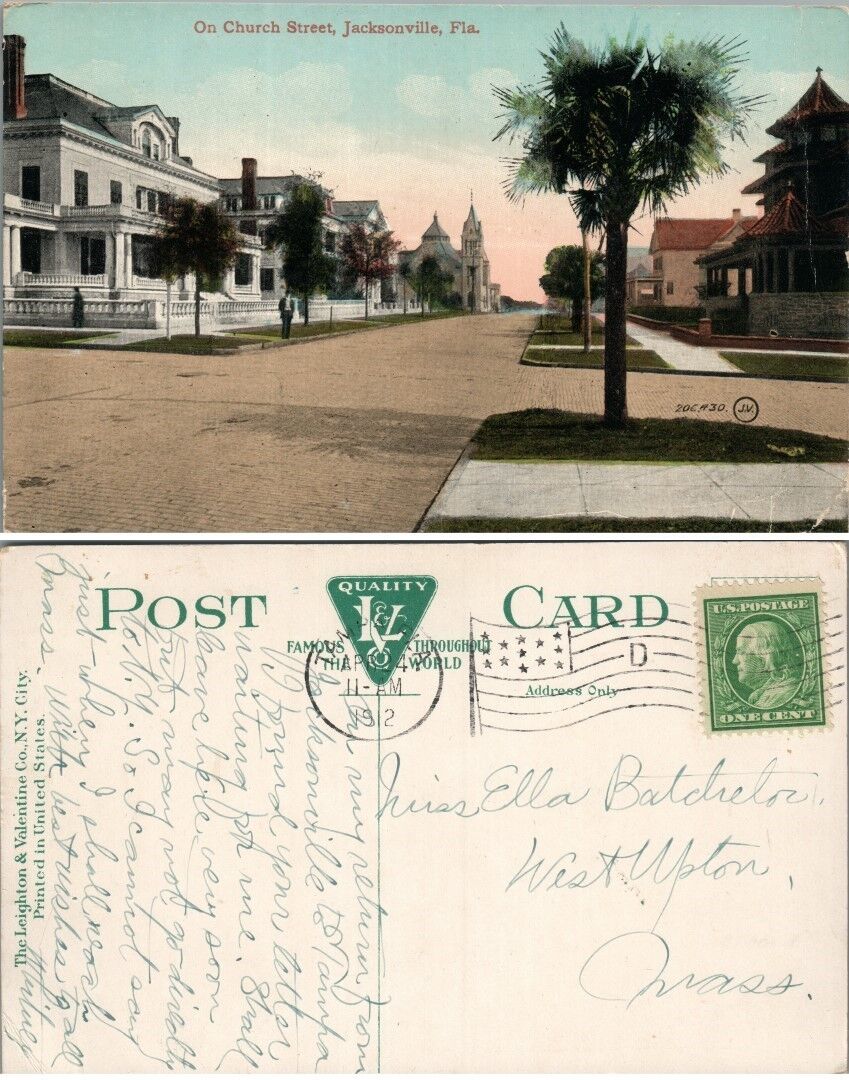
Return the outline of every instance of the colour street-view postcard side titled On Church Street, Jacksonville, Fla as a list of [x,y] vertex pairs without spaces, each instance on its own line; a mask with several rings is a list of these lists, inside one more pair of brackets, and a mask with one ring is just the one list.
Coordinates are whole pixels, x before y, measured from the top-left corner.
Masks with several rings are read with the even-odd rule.
[[845,9],[4,15],[10,530],[846,531]]

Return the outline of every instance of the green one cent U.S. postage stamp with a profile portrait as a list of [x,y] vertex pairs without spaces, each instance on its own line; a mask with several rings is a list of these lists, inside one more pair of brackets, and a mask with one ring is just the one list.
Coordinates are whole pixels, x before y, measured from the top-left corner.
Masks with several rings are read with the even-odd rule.
[[813,583],[712,586],[700,599],[711,730],[824,727]]

